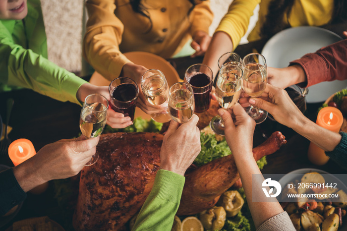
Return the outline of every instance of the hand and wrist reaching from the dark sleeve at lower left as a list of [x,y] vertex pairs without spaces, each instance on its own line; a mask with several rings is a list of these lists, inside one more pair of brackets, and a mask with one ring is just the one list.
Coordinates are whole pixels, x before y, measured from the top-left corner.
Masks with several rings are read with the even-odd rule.
[[27,192],[52,179],[79,173],[95,154],[99,137],[62,139],[44,146],[35,156],[13,168],[21,188]]

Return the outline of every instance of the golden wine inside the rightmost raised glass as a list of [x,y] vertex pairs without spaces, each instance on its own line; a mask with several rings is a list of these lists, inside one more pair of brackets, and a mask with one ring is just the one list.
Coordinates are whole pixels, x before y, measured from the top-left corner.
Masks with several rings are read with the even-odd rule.
[[250,71],[244,73],[243,90],[250,97],[259,97],[266,88],[266,68],[259,70],[262,67],[259,63],[249,63],[246,67]]

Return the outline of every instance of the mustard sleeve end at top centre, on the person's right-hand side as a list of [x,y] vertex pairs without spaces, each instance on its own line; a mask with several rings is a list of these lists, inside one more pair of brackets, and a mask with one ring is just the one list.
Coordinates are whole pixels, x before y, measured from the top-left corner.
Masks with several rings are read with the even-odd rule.
[[196,4],[191,13],[193,14],[190,28],[191,36],[194,36],[195,32],[198,30],[208,33],[208,28],[213,20],[213,12],[210,7],[210,0],[204,0],[199,4]]

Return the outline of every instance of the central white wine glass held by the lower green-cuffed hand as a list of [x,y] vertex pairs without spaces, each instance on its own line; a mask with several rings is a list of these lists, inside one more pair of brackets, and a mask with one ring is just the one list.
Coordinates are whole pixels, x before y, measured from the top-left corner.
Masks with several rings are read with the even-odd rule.
[[185,123],[195,111],[193,89],[187,83],[175,83],[169,90],[169,112],[173,120]]

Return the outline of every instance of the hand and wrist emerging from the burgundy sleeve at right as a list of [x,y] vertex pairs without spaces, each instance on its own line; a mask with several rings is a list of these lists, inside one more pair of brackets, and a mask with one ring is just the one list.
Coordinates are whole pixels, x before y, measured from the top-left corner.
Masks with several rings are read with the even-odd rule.
[[268,67],[267,73],[268,83],[283,89],[307,81],[306,74],[300,65],[285,68]]

